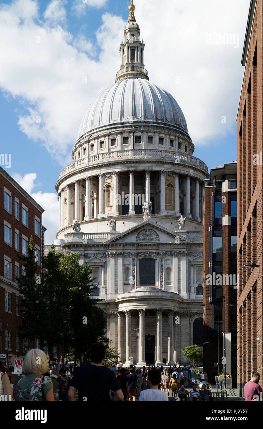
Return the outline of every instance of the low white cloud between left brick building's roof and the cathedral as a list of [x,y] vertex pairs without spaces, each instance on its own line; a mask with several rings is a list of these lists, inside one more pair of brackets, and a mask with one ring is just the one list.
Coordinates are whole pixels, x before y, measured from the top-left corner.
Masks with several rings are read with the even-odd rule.
[[58,229],[58,200],[56,193],[48,193],[41,191],[33,192],[33,188],[38,185],[36,181],[36,173],[27,173],[21,176],[19,173],[13,173],[12,178],[20,184],[30,196],[44,208],[42,215],[42,224],[47,229],[45,232],[45,244],[52,244],[56,239]]

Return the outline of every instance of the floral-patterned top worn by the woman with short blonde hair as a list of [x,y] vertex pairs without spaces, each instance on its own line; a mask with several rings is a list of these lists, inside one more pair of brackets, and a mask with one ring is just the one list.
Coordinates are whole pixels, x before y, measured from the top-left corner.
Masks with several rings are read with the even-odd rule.
[[[30,374],[25,375],[18,381],[17,384],[17,396],[19,401],[42,401],[42,388],[41,388],[42,376]],[[53,383],[50,377],[45,376],[43,379],[44,395],[49,390],[53,389]]]

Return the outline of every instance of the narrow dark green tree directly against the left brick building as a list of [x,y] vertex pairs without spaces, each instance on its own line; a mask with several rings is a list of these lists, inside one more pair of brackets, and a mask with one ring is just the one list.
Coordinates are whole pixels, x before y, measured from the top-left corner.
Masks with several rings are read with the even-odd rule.
[[47,324],[43,315],[46,311],[45,299],[42,295],[41,278],[37,273],[39,266],[35,261],[35,248],[33,238],[30,237],[27,256],[17,254],[18,259],[23,262],[24,274],[16,278],[19,292],[23,295],[22,305],[23,317],[21,325],[18,327],[20,338],[27,338],[31,341],[40,337],[40,344],[43,347]]

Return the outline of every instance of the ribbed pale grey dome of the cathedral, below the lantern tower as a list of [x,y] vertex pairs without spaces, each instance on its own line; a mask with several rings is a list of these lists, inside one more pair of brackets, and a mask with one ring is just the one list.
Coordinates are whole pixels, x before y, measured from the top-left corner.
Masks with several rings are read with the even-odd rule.
[[104,90],[86,111],[78,139],[112,124],[150,122],[187,133],[184,114],[169,92],[146,79],[122,79]]

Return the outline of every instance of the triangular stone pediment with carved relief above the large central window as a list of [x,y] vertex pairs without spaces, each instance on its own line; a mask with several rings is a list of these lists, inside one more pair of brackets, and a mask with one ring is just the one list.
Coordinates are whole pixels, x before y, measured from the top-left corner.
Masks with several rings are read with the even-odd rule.
[[190,240],[179,234],[166,229],[161,225],[154,224],[153,221],[145,221],[136,225],[123,233],[112,237],[107,243],[131,242],[131,243],[189,243]]

